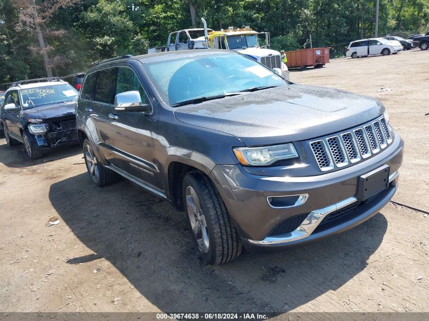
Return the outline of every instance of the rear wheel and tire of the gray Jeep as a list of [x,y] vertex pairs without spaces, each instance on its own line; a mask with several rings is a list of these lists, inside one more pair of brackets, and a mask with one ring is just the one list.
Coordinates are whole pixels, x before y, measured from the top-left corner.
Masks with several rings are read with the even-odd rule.
[[[90,161],[88,148],[90,149],[92,153],[92,161]],[[91,144],[89,144],[88,139],[84,139],[83,141],[83,158],[85,160],[86,169],[88,171],[89,176],[91,177],[92,181],[95,183],[98,187],[104,187],[110,184],[115,183],[119,175],[110,169],[104,167],[100,162],[98,162],[97,157],[95,156],[94,150],[92,149]],[[93,165],[94,167],[90,167],[90,165]]]

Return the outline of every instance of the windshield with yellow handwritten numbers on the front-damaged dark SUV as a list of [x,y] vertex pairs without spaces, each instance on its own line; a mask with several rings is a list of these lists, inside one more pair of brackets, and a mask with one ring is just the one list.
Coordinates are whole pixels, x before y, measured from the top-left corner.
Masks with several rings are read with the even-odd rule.
[[19,94],[23,110],[46,104],[73,101],[78,96],[76,89],[69,84],[21,89]]

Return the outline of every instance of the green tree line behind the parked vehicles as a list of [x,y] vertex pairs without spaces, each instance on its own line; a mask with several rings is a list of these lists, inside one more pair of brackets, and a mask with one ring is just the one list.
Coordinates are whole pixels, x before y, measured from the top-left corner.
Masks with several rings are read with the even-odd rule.
[[[250,26],[272,48],[338,46],[372,37],[376,0],[0,0],[0,83],[81,72],[145,54],[170,32]],[[380,0],[379,35],[426,32],[429,0]]]

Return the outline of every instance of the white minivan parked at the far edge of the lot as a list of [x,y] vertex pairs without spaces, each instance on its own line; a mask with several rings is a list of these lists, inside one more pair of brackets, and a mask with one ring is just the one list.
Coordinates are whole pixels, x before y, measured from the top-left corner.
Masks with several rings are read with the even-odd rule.
[[390,41],[384,38],[370,38],[353,41],[346,50],[346,56],[357,58],[372,55],[389,55],[402,51],[398,41]]

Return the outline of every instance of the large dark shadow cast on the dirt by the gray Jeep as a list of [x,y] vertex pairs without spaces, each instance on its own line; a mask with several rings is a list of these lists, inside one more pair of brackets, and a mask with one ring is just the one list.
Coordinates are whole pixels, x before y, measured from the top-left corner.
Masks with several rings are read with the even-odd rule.
[[53,184],[49,198],[73,233],[162,311],[282,313],[343,286],[366,267],[387,221],[378,214],[326,241],[280,254],[244,253],[222,266],[196,256],[185,215],[123,180],[95,188],[86,173]]

